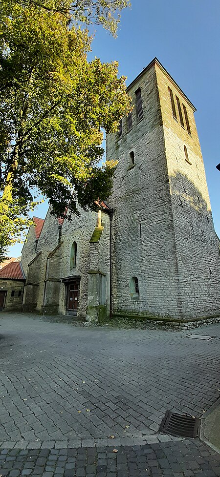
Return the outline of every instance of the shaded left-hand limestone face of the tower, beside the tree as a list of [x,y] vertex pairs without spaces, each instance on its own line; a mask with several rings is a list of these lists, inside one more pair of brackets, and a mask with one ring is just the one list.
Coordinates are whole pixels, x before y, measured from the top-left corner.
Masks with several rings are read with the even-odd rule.
[[[132,111],[132,129],[107,137],[107,158],[118,159],[110,207],[113,215],[115,315],[179,316],[178,268],[164,132],[154,65],[129,88],[141,88],[143,120]],[[131,161],[134,153],[134,164]],[[131,297],[137,277],[139,296]]]

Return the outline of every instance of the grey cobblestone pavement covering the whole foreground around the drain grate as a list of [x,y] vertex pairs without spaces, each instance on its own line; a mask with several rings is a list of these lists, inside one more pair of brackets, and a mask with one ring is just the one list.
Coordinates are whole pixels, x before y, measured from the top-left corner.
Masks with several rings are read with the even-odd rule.
[[1,313],[0,335],[0,475],[220,476],[198,439],[157,434],[167,409],[200,416],[219,397],[218,324],[124,330]]

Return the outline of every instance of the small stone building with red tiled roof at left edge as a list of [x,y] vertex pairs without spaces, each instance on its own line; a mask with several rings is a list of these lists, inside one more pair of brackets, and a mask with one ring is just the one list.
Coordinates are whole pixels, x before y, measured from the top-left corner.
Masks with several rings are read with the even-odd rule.
[[25,278],[21,262],[10,262],[0,270],[0,311],[21,309]]

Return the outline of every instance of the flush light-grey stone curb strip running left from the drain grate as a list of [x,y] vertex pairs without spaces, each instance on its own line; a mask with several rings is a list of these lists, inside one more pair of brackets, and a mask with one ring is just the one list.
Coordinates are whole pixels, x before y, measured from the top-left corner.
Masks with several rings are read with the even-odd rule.
[[4,441],[0,442],[1,449],[74,449],[80,447],[124,447],[140,446],[145,444],[158,444],[159,442],[176,442],[184,440],[183,437],[154,434],[143,437],[115,437],[114,439],[74,439],[66,441]]

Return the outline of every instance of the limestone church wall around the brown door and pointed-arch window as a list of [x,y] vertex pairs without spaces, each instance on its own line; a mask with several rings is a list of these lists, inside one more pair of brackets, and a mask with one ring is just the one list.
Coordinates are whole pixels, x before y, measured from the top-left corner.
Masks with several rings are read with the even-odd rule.
[[[61,276],[80,275],[78,315],[86,316],[88,300],[88,270],[90,266],[89,240],[96,225],[97,213],[80,209],[80,216],[73,216],[72,221],[64,221],[62,227],[63,256]],[[76,267],[70,269],[70,254],[73,242],[77,244]],[[60,289],[59,312],[66,313],[66,286]]]

